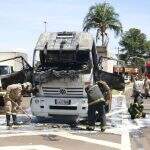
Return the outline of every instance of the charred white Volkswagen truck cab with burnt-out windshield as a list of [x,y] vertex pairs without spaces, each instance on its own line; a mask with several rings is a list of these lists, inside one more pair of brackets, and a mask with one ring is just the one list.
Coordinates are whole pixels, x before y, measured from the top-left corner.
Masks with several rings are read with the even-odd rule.
[[33,115],[85,118],[85,87],[96,82],[97,60],[89,33],[41,34],[33,57],[33,85],[38,89],[31,100]]

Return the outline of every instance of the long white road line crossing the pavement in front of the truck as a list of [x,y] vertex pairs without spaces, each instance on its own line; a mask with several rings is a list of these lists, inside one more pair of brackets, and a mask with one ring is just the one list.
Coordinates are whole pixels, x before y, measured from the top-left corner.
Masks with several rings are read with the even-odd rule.
[[56,132],[56,131],[53,131],[53,132],[51,132],[51,131],[45,131],[45,132],[29,131],[26,133],[2,134],[2,135],[0,135],[0,138],[1,137],[3,137],[3,138],[4,137],[13,137],[13,136],[15,136],[15,137],[16,136],[34,136],[34,135],[57,135],[57,136],[61,136],[61,137],[72,139],[72,140],[83,141],[83,142],[102,145],[102,146],[106,146],[106,147],[110,147],[110,148],[116,148],[116,149],[121,148],[121,144],[119,144],[119,143],[114,143],[111,141],[104,141],[104,140],[96,140],[96,139],[92,139],[92,138],[88,138],[88,137],[84,137],[84,136],[73,135],[68,132]]

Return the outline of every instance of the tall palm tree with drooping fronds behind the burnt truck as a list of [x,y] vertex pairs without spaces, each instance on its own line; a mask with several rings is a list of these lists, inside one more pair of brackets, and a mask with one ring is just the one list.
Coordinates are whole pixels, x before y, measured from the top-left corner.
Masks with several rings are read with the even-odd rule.
[[116,36],[122,33],[122,24],[117,14],[109,3],[99,3],[91,6],[83,21],[83,31],[96,29],[96,41],[101,37],[102,46],[108,44],[107,30],[113,30]]

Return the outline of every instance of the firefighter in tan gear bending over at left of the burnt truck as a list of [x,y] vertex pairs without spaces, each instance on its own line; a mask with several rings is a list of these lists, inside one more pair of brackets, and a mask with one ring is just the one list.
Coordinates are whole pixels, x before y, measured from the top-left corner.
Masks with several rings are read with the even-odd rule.
[[12,84],[7,87],[6,95],[4,97],[7,126],[11,126],[11,115],[13,125],[18,125],[17,113],[22,102],[23,94],[30,90],[30,88],[31,84],[29,82],[23,84]]

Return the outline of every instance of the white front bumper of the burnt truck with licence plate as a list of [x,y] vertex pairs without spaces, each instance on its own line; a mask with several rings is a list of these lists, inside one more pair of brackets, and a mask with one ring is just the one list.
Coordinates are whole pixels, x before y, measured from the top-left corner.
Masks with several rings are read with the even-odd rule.
[[[69,101],[61,104],[56,101]],[[87,117],[88,103],[87,98],[57,98],[57,97],[32,97],[31,111],[34,116],[78,116]]]

